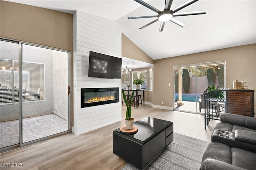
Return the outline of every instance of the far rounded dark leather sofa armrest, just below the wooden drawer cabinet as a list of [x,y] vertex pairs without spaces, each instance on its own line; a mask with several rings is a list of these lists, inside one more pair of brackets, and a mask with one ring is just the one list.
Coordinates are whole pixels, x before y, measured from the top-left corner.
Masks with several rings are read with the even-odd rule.
[[220,121],[223,123],[229,123],[231,125],[237,125],[240,127],[256,130],[256,118],[254,117],[222,113],[220,114]]

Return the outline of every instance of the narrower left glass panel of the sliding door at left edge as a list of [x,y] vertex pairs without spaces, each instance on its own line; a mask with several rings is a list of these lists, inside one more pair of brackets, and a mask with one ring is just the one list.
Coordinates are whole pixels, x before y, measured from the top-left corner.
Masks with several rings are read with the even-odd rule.
[[0,41],[0,144],[1,148],[19,144],[17,42]]

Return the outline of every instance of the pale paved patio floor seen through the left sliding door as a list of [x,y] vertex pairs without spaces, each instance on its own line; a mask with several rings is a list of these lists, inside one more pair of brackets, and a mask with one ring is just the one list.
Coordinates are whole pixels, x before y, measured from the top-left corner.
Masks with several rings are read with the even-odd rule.
[[[0,123],[0,146],[19,143],[19,121]],[[23,143],[68,130],[68,121],[55,114],[23,119]]]

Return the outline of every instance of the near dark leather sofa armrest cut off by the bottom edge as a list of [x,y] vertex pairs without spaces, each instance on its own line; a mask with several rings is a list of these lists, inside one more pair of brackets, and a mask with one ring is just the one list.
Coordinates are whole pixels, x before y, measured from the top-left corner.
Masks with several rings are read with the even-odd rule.
[[228,164],[226,162],[222,162],[220,160],[207,158],[202,162],[200,170],[245,170],[244,168],[240,168],[238,166],[234,166],[232,164]]

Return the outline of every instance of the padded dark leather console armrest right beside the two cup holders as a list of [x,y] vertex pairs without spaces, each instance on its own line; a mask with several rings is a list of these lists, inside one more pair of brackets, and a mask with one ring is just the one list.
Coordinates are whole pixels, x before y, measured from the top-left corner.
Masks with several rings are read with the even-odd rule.
[[256,145],[256,132],[235,130],[235,140]]

